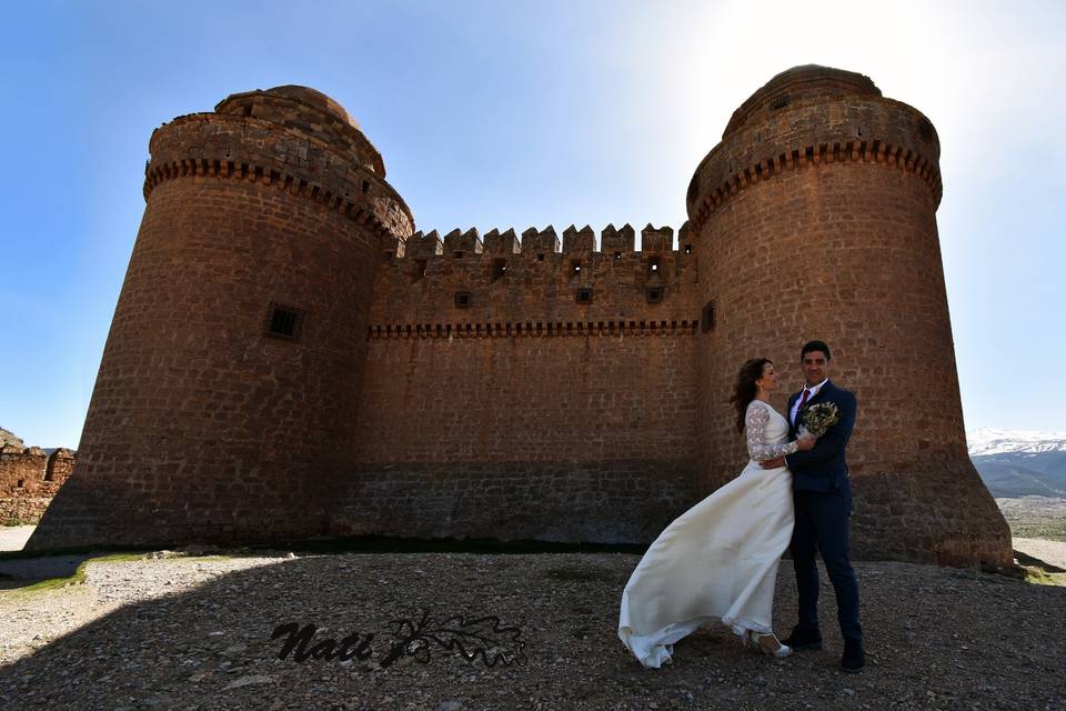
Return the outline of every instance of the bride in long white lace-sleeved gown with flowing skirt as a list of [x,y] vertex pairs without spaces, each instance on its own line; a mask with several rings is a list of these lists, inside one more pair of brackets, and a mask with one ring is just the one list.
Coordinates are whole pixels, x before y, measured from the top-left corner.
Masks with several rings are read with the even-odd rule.
[[622,592],[619,637],[645,667],[662,667],[675,642],[714,620],[766,654],[792,652],[771,625],[777,563],[792,539],[792,474],[758,462],[809,450],[815,438],[788,441],[788,422],[770,407],[776,389],[768,359],[744,363],[730,402],[751,461],[660,533]]

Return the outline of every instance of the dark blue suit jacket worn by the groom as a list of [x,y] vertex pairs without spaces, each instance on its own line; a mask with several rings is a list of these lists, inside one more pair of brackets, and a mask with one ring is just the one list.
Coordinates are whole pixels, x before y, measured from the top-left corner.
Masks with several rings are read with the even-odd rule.
[[[792,412],[792,405],[803,391],[788,398],[787,413]],[[847,448],[847,440],[852,437],[852,430],[855,428],[855,411],[857,403],[855,395],[843,388],[837,388],[833,381],[826,381],[818,393],[807,400],[804,408],[809,408],[818,402],[833,402],[836,404],[839,413],[839,421],[831,427],[818,438],[814,449],[806,452],[793,452],[785,458],[788,469],[792,471],[792,487],[796,491],[822,491],[836,493],[847,499],[847,509],[852,509],[852,482],[847,475],[847,460],[844,458],[844,451]],[[803,415],[803,410],[796,413],[796,423],[788,420],[790,439],[796,437],[798,422]]]

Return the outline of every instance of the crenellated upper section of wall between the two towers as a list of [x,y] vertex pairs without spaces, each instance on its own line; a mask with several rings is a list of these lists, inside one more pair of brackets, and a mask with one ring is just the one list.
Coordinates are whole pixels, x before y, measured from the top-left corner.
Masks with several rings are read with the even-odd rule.
[[[697,262],[687,226],[674,239],[671,227],[571,224],[562,239],[553,226],[415,232],[379,267],[370,323],[373,338],[438,331],[452,338],[507,336],[676,332],[664,323],[691,323],[696,304]],[[599,248],[599,249],[597,249]],[[450,326],[451,324],[451,326]],[[535,327],[532,324],[542,324]],[[557,324],[557,326],[547,326]],[[579,326],[564,326],[579,324]],[[617,324],[617,326],[612,326]]]

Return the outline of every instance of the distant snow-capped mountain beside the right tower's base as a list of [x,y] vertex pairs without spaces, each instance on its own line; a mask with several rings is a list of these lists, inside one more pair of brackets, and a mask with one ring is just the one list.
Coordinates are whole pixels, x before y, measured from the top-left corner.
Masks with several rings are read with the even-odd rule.
[[1066,499],[1066,432],[983,428],[966,441],[992,495]]

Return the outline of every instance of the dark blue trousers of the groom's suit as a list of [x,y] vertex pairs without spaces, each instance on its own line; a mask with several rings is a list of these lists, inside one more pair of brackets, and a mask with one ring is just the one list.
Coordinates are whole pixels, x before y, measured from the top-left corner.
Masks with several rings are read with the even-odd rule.
[[794,491],[796,524],[792,531],[792,562],[800,593],[800,627],[818,629],[818,568],[822,553],[825,570],[836,592],[836,617],[845,640],[862,641],[858,623],[858,581],[848,557],[851,507],[836,493]]

